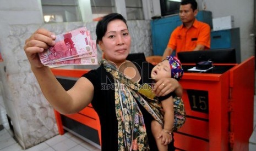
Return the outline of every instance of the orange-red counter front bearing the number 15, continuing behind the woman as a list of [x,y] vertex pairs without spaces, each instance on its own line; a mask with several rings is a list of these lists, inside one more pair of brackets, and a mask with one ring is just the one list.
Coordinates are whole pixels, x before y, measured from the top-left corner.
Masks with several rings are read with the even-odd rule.
[[[248,150],[249,137],[253,132],[254,69],[254,57],[250,57],[219,74],[184,73],[180,83],[187,119],[184,126],[175,132],[178,149]],[[57,76],[66,77],[73,77],[70,73],[80,77],[78,72],[87,72],[69,70],[67,74],[60,74],[61,69],[52,71]],[[59,132],[63,134],[58,116],[56,112]],[[73,119],[90,125],[83,117]],[[100,134],[99,120],[94,123],[98,127],[92,128]]]

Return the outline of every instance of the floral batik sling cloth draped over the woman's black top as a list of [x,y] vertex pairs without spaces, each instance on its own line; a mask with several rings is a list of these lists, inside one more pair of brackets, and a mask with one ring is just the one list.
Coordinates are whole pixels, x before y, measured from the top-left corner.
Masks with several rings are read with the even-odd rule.
[[115,65],[101,61],[107,72],[115,79],[115,105],[118,121],[118,150],[149,150],[148,137],[139,102],[161,125],[161,103],[157,100],[144,100],[138,93],[140,84],[132,82],[119,72]]

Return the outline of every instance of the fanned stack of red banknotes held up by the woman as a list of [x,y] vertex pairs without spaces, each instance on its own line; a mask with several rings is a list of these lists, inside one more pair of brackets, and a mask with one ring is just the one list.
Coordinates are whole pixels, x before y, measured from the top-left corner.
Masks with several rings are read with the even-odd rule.
[[56,44],[39,53],[43,65],[97,65],[96,40],[86,27],[56,36]]

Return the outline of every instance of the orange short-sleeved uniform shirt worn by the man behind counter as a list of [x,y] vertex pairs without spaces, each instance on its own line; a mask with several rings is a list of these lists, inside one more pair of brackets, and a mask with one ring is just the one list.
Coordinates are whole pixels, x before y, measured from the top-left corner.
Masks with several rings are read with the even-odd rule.
[[183,24],[178,26],[171,34],[168,48],[180,51],[192,51],[197,44],[202,44],[205,49],[210,49],[210,32],[211,28],[208,24],[195,19],[193,26],[186,28]]

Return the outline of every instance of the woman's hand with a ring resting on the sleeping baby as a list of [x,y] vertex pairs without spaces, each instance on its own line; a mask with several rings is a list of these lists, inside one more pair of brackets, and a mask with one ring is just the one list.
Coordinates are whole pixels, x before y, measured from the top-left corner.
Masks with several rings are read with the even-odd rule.
[[183,89],[181,84],[176,79],[173,78],[162,78],[155,83],[154,92],[156,96],[166,96],[170,92],[175,92],[179,97],[183,94]]

